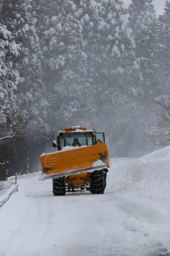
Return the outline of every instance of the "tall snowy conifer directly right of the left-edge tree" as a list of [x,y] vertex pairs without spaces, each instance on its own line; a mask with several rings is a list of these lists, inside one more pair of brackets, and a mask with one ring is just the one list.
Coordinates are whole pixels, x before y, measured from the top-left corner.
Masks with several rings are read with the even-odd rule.
[[29,133],[35,134],[36,131],[42,134],[47,133],[45,88],[42,83],[43,56],[37,35],[35,2],[7,0],[3,8],[4,22],[20,46],[19,57],[14,61],[15,68],[20,74],[17,90],[18,104],[22,110],[25,109],[33,117],[28,125]]

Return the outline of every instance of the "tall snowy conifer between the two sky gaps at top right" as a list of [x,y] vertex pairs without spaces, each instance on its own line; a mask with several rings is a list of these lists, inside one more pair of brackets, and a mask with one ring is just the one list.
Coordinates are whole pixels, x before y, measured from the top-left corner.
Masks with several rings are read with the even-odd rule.
[[140,104],[143,114],[150,108],[150,102],[157,95],[159,81],[156,78],[158,61],[156,58],[157,20],[152,0],[132,0],[129,6],[129,20],[135,41],[136,61],[139,66],[140,79],[137,87],[142,88],[143,95]]

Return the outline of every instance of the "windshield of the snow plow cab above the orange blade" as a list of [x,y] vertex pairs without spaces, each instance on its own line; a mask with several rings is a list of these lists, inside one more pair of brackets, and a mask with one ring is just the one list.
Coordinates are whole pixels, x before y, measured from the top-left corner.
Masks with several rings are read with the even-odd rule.
[[60,135],[59,148],[62,150],[64,146],[82,146],[93,144],[92,133],[63,133]]

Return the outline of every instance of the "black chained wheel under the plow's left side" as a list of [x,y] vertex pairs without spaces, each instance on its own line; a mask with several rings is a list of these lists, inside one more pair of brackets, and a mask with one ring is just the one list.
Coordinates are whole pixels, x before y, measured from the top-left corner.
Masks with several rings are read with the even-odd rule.
[[54,196],[65,195],[65,177],[53,179],[53,194]]

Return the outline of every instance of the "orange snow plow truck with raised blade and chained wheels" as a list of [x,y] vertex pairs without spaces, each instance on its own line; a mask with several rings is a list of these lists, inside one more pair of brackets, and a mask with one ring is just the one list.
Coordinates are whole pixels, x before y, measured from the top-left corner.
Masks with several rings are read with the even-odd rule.
[[86,127],[66,127],[56,132],[54,153],[43,153],[40,180],[53,179],[54,196],[64,196],[76,188],[103,194],[109,165],[109,152],[104,133]]

